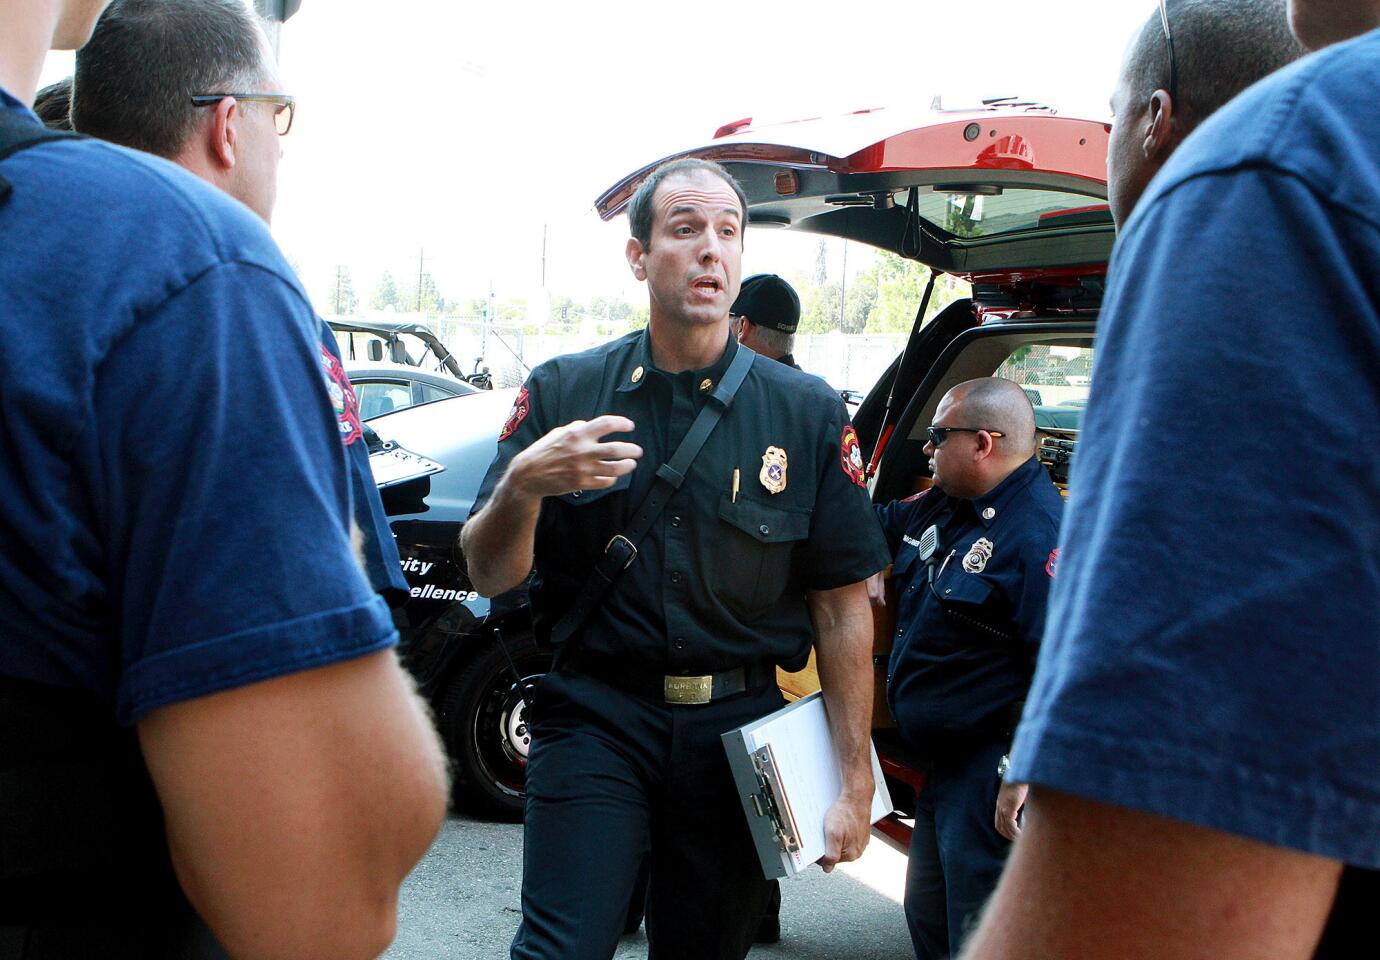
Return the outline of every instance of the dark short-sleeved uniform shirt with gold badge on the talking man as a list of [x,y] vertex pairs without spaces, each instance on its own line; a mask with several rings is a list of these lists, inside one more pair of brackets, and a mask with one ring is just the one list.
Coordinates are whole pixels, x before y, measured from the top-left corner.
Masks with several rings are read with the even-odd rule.
[[[578,596],[609,539],[625,530],[656,469],[679,446],[740,346],[708,368],[667,374],[647,332],[533,372],[498,443],[475,509],[523,448],[574,419],[620,414],[643,448],[610,490],[542,502],[531,585],[538,636]],[[753,357],[733,406],[639,546],[636,561],[571,643],[667,672],[752,662],[803,665],[809,590],[865,579],[886,546],[862,487],[862,462],[838,394],[816,377]]]

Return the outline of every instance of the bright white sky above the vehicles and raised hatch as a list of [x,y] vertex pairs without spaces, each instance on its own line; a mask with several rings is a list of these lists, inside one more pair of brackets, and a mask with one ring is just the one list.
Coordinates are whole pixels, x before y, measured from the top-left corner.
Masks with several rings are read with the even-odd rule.
[[[418,252],[450,299],[546,290],[644,299],[627,221],[593,199],[731,120],[1020,95],[1105,119],[1144,0],[304,0],[280,59],[297,121],[273,232],[324,299],[367,299]],[[70,72],[54,55],[44,83]],[[787,273],[817,240],[755,232],[744,269]],[[865,257],[850,254],[850,268]]]

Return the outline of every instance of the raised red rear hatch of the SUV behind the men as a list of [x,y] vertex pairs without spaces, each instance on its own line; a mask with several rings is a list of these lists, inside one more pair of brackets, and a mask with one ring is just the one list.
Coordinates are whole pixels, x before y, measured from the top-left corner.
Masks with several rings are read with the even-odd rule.
[[1103,121],[1003,103],[744,120],[628,174],[595,208],[611,219],[656,167],[700,157],[742,183],[753,226],[857,240],[976,283],[1101,273],[1107,135]]

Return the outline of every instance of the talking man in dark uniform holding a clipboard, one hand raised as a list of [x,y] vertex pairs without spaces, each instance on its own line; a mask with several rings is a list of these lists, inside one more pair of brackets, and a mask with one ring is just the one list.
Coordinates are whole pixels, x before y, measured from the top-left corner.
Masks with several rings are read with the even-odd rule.
[[[654,171],[629,207],[647,330],[540,366],[519,394],[464,552],[487,594],[535,567],[538,639],[747,350],[729,332],[745,207],[718,166]],[[776,666],[800,668],[811,641],[846,783],[825,869],[867,844],[862,581],[886,564],[885,543],[839,399],[744,357],[747,378],[684,484],[537,691],[515,957],[613,956],[649,851],[653,953],[747,953],[770,888],[719,737],[781,705]]]

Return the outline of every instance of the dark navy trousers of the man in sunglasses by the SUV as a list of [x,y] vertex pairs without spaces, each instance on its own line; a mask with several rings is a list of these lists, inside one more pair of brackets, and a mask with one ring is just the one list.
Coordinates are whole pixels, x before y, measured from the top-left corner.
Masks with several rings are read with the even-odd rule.
[[996,764],[1009,739],[943,757],[915,799],[905,921],[919,960],[958,953],[996,890],[1012,841],[996,832]]

